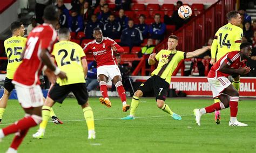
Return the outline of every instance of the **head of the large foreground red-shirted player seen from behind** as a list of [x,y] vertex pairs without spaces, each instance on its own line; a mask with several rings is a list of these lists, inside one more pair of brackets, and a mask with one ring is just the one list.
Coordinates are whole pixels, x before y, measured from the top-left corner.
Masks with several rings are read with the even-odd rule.
[[43,15],[44,23],[52,24],[53,27],[56,27],[59,20],[59,12],[56,6],[48,5],[44,9]]

